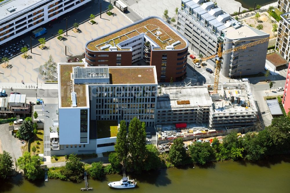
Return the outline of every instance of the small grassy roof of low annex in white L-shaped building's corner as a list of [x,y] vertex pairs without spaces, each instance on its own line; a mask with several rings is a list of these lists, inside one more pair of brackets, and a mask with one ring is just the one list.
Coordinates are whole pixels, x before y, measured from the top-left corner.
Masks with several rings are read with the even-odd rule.
[[118,121],[97,121],[97,138],[115,137],[118,133]]

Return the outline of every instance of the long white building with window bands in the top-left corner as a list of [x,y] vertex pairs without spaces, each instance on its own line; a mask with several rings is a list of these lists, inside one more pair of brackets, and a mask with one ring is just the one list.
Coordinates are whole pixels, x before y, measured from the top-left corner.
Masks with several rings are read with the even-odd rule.
[[0,2],[0,45],[92,0],[4,0]]

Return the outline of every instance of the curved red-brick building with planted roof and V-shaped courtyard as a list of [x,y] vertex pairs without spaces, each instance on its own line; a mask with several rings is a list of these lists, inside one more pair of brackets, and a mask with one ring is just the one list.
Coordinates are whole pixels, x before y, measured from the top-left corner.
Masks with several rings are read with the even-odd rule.
[[[156,66],[158,82],[184,79],[188,42],[160,17],[147,17],[88,41],[85,59],[90,66]],[[143,60],[143,61],[140,61]]]

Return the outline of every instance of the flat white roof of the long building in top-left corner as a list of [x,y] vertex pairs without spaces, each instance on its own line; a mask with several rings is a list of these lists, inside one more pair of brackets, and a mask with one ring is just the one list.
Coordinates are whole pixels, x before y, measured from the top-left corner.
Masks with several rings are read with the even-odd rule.
[[[21,12],[22,10],[26,10],[29,7],[32,7],[35,4],[45,2],[47,0],[12,0],[7,3],[0,3],[0,21],[14,15],[16,13]],[[9,12],[7,9],[13,6],[15,11]]]

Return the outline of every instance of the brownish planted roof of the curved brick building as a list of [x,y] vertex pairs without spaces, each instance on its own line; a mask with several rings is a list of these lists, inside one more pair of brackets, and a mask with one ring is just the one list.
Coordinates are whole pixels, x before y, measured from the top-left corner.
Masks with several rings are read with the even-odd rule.
[[[156,35],[157,31],[160,31],[162,34]],[[142,33],[156,42],[162,50],[165,50],[167,45],[177,41],[181,43],[174,46],[175,50],[185,48],[187,45],[186,41],[170,26],[161,19],[151,17],[142,20],[140,23],[133,23],[110,34],[98,37],[88,42],[87,48],[92,51],[108,51],[109,48],[106,45],[110,44],[111,46],[117,46],[118,50],[129,50],[128,48],[120,48],[117,44]],[[104,48],[104,46],[106,47]]]

